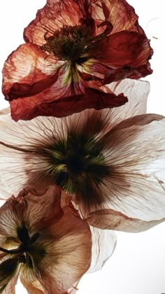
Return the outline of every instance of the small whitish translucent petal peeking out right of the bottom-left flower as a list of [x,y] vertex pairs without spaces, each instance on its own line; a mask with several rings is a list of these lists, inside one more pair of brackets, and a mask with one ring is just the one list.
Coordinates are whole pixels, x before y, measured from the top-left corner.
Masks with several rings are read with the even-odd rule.
[[[89,220],[87,219],[88,223]],[[93,225],[93,223],[91,223]],[[111,230],[90,227],[92,232],[92,262],[87,273],[101,269],[115,250],[117,237]]]

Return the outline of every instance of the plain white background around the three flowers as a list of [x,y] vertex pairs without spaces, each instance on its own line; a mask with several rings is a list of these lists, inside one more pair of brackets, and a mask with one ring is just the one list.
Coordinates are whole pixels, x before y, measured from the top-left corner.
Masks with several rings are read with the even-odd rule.
[[[67,1],[67,0],[65,0]],[[151,92],[148,112],[164,110],[164,0],[129,0],[140,16],[139,22],[151,38]],[[0,3],[0,67],[12,50],[23,43],[22,31],[42,8],[45,0],[5,0]],[[155,38],[156,37],[156,38]],[[7,106],[0,97],[0,109]],[[157,225],[139,234],[117,233],[117,248],[100,272],[87,274],[80,282],[78,294],[161,294],[165,293],[165,225]],[[17,286],[17,293],[27,293]]]

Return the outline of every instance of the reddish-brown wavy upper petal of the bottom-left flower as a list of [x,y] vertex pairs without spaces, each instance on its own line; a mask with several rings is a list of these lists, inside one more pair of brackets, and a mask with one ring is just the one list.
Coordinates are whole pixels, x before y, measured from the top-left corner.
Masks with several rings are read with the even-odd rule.
[[33,234],[43,230],[62,218],[61,191],[50,186],[43,195],[34,195],[22,190],[17,198],[11,197],[0,208],[0,233],[17,238],[17,228],[24,223]]

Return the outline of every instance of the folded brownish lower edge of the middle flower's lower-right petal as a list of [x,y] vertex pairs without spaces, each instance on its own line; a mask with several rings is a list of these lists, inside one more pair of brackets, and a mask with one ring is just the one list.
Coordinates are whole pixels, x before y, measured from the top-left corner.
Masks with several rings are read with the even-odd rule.
[[143,221],[138,218],[129,218],[121,212],[114,211],[113,209],[101,209],[89,214],[86,221],[89,225],[101,228],[102,230],[143,232],[162,223],[165,221],[165,218],[162,218],[159,221]]

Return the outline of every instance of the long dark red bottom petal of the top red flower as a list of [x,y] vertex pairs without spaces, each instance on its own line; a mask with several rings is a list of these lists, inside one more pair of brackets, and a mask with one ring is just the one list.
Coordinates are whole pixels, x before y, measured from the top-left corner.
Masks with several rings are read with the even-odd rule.
[[[105,90],[108,87],[102,87]],[[84,109],[105,109],[121,106],[128,100],[124,94],[116,96],[112,92],[103,92],[92,88],[85,89],[85,94],[58,99],[57,101],[44,102],[43,95],[36,103],[36,97],[14,99],[10,102],[13,120],[31,120],[36,116],[64,117]]]

